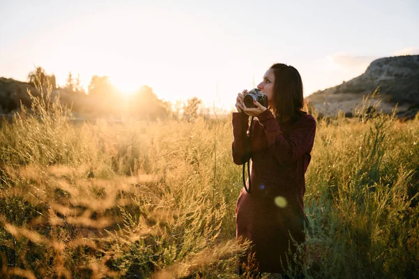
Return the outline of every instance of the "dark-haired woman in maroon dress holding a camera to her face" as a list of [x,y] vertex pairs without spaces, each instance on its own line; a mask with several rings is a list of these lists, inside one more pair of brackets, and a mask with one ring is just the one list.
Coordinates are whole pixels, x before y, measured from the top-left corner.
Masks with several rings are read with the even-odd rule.
[[[233,161],[252,162],[250,193],[242,188],[237,200],[236,238],[251,241],[249,252],[255,254],[258,271],[285,273],[288,262],[295,267],[289,252],[305,241],[304,174],[316,120],[302,111],[302,80],[294,67],[272,65],[258,89],[267,95],[269,108],[257,101],[256,107],[245,107],[243,91],[233,112]],[[251,131],[249,116],[255,116]]]

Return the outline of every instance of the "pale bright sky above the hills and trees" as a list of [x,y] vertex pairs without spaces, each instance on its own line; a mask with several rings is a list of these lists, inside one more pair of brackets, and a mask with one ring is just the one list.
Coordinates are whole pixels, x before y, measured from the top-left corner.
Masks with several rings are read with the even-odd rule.
[[419,54],[418,0],[0,0],[0,76],[42,66],[87,87],[108,75],[166,100],[228,109],[272,63],[300,71],[304,95],[384,56]]

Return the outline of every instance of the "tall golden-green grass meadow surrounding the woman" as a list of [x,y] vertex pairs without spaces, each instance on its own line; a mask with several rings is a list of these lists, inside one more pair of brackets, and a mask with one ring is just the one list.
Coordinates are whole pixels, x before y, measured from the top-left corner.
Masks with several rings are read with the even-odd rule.
[[[419,119],[367,102],[317,121],[306,278],[419,277]],[[1,124],[2,278],[239,278],[230,116],[69,115],[45,92]]]

